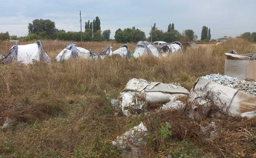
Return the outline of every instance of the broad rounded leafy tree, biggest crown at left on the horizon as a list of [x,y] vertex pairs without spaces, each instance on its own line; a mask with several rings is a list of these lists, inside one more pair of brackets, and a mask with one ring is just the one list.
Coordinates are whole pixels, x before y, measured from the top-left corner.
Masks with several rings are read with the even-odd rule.
[[28,23],[28,33],[39,34],[41,32],[46,33],[48,38],[53,39],[54,33],[56,31],[55,23],[49,19],[35,19],[31,23]]

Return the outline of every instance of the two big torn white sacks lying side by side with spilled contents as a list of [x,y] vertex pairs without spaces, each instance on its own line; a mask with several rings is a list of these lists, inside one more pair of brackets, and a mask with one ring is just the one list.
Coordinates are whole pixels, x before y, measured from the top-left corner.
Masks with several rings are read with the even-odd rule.
[[[192,117],[196,113],[207,115],[213,104],[225,115],[253,117],[256,116],[256,96],[251,93],[255,93],[255,86],[255,82],[237,81],[236,78],[219,74],[198,78],[190,92],[177,83],[131,79],[120,93],[120,99],[113,99],[111,103],[117,111],[122,110],[125,116],[133,116],[147,113],[147,103],[164,103],[159,110],[184,108],[185,103],[177,99],[188,96],[190,105],[187,107],[193,109],[187,114],[190,118],[196,118]],[[196,111],[198,105],[203,107],[203,111]]]

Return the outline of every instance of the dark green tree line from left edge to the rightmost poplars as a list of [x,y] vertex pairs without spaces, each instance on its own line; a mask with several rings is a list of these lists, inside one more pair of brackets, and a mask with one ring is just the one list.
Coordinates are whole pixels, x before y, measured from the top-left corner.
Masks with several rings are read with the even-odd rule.
[[[8,32],[7,32],[8,33]],[[109,41],[111,31],[109,29],[101,31],[100,18],[97,16],[93,21],[86,21],[84,31],[82,32],[82,41]],[[9,37],[9,33],[8,33]],[[154,23],[149,37],[146,38],[145,32],[133,26],[132,28],[117,29],[114,35],[115,41],[120,43],[137,42],[137,41],[193,41],[197,40],[197,35],[192,29],[186,29],[182,33],[174,28],[174,23],[167,26],[164,32],[156,27]],[[6,33],[0,34],[0,39],[6,39]],[[12,36],[12,39],[17,36]],[[63,41],[81,41],[81,32],[59,30],[55,27],[55,22],[49,19],[34,19],[28,24],[28,36],[21,37],[25,41],[33,39],[53,39]],[[201,33],[201,41],[211,40],[211,30],[203,26]]]

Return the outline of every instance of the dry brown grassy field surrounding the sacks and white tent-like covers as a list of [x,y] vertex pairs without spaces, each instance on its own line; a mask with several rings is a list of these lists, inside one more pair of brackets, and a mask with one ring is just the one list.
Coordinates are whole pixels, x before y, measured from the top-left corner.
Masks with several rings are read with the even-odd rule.
[[[30,41],[29,44],[35,41]],[[55,62],[70,41],[41,41],[51,63],[0,66],[0,124],[16,118],[10,128],[0,128],[0,157],[122,157],[115,140],[141,121],[149,130],[141,157],[256,157],[256,119],[207,117],[191,120],[182,111],[150,108],[149,115],[114,115],[110,103],[132,78],[164,83],[178,82],[190,90],[200,76],[224,74],[224,53],[256,52],[252,43],[229,39],[221,45],[188,48],[182,54],[162,58],[142,56],[126,60],[72,59]],[[79,42],[77,46],[98,53],[113,42]],[[0,43],[6,55],[11,43]],[[132,52],[135,43],[128,43]],[[218,137],[201,140],[200,126],[215,121]],[[159,127],[172,125],[171,139],[163,139]]]

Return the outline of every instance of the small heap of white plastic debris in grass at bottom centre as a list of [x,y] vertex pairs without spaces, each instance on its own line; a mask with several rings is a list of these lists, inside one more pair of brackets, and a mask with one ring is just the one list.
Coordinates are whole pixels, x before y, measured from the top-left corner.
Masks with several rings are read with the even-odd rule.
[[115,141],[112,141],[113,145],[116,145],[119,149],[131,149],[131,154],[138,155],[140,148],[143,148],[146,143],[145,136],[148,135],[148,129],[141,122],[138,126],[131,128],[129,131],[124,132],[122,136],[117,136]]

